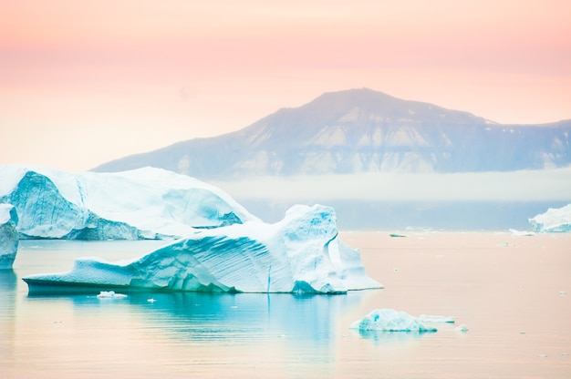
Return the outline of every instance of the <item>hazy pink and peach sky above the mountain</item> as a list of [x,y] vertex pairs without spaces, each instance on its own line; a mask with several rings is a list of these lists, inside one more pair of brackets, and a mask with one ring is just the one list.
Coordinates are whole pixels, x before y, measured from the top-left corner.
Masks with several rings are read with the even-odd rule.
[[0,164],[90,169],[355,87],[571,118],[569,20],[569,0],[0,0]]

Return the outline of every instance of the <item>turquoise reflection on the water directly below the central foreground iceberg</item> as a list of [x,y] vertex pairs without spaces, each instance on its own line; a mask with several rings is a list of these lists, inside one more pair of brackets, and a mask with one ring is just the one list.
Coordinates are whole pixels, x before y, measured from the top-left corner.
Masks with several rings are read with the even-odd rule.
[[[41,299],[62,300],[62,296]],[[315,346],[328,346],[335,336],[337,315],[357,304],[360,296],[137,292],[125,299],[84,295],[67,299],[78,310],[97,308],[101,316],[112,316],[119,309],[132,312],[140,316],[146,327],[182,341],[227,339],[234,343],[254,343],[278,337],[303,338]],[[126,306],[130,307],[128,311],[124,309]]]

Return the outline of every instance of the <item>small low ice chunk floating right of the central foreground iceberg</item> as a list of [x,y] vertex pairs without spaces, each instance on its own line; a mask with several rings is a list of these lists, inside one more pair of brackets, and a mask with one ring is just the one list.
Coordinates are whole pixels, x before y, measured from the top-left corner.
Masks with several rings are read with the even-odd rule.
[[411,316],[407,312],[394,309],[377,309],[363,317],[362,320],[352,323],[350,329],[358,329],[361,332],[413,332],[427,333],[437,332],[438,329],[420,320],[419,317]]

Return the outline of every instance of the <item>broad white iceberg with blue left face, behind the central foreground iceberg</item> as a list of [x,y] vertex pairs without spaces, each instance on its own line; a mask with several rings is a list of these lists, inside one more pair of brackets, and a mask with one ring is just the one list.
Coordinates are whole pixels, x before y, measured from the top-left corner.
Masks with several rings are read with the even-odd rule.
[[20,238],[168,239],[257,220],[223,190],[164,169],[68,173],[0,166],[0,203],[16,207]]

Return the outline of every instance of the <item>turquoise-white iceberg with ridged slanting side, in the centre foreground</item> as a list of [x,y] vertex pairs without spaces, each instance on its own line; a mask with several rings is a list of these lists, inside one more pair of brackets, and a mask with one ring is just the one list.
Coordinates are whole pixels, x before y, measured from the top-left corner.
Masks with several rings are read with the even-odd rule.
[[78,259],[24,278],[30,293],[132,291],[343,293],[381,288],[337,237],[332,208],[297,205],[275,224],[198,230],[133,261]]

